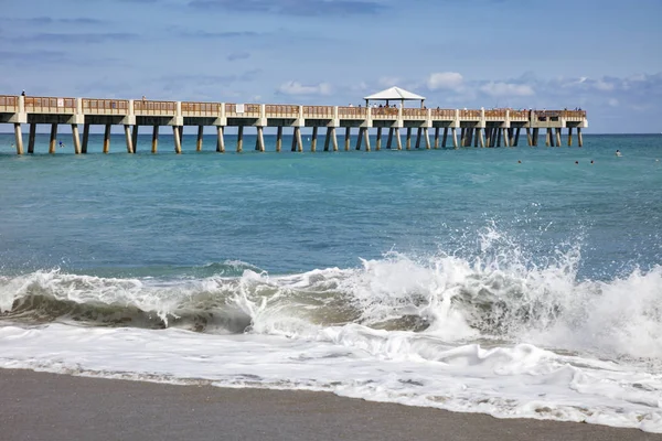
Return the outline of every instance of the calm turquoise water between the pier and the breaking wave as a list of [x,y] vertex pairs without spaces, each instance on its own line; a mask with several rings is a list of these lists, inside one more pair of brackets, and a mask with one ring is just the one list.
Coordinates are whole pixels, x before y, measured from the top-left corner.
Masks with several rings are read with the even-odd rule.
[[[0,146],[12,140],[4,135]],[[90,138],[90,152],[100,141]],[[250,137],[243,154],[229,152],[229,137],[225,154],[194,152],[186,136],[181,157],[167,136],[157,155],[150,141],[141,137],[136,155],[121,136],[109,155],[73,157],[65,147],[51,157],[47,136],[34,157],[4,148],[4,271],[158,275],[242,260],[286,273],[352,267],[391,250],[467,257],[492,226],[532,261],[579,244],[590,277],[662,261],[660,136],[587,136],[583,149],[366,153],[352,143],[350,152],[302,154],[289,152],[287,138],[286,151],[257,153],[246,148]],[[273,150],[275,139],[266,142]],[[204,147],[213,150],[215,138]]]

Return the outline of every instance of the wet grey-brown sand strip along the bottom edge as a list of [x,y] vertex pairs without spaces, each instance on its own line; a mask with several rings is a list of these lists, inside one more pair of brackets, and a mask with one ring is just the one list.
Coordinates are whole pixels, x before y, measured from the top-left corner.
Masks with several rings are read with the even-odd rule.
[[2,440],[661,440],[632,429],[0,369]]

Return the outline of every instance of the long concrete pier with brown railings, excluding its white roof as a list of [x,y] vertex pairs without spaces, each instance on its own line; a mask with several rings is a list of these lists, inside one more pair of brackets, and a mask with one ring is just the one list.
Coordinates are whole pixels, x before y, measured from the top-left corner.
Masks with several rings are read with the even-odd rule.
[[[339,149],[349,151],[352,148],[371,151],[373,149],[371,130],[376,131],[374,150],[383,148],[412,150],[449,147],[456,149],[516,147],[523,131],[526,133],[527,146],[535,147],[538,144],[541,130],[546,131],[545,146],[547,147],[560,147],[564,130],[567,146],[573,146],[573,130],[575,130],[577,146],[581,147],[581,129],[588,127],[584,110],[433,109],[423,107],[423,100],[420,108],[407,108],[404,107],[404,101],[401,106],[351,107],[12,95],[0,95],[0,123],[13,125],[18,154],[24,153],[24,126],[29,127],[28,153],[34,152],[38,125],[50,126],[50,153],[56,151],[57,127],[71,125],[76,154],[87,153],[89,127],[93,125],[105,128],[104,153],[110,151],[111,126],[124,126],[128,153],[135,153],[137,150],[140,128],[151,130],[151,152],[157,153],[161,126],[172,127],[173,148],[177,153],[182,151],[184,126],[197,128],[196,151],[203,149],[203,128],[215,127],[217,140],[214,148],[217,152],[226,150],[227,127],[237,128],[235,148],[237,152],[244,149],[246,128],[256,131],[255,150],[265,151],[264,129],[275,127],[277,128],[276,151],[281,151],[284,148],[282,135],[285,129],[288,129],[293,135],[291,151],[314,152],[320,150],[318,149],[320,128],[325,129],[324,151]],[[306,148],[301,137],[302,128],[312,128],[310,143]],[[352,141],[352,130],[356,133],[354,141]],[[343,135],[344,142],[339,144],[338,138]]]

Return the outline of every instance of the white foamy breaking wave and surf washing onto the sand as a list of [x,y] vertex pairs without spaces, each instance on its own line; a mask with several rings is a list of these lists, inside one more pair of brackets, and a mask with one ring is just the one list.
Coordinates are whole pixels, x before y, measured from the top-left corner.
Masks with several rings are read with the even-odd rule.
[[[514,246],[493,252],[503,240],[483,236],[473,260],[391,254],[284,277],[4,277],[0,366],[662,432],[662,267],[578,280],[577,248],[536,266]],[[35,311],[50,323],[26,320]],[[71,322],[99,315],[126,327]]]

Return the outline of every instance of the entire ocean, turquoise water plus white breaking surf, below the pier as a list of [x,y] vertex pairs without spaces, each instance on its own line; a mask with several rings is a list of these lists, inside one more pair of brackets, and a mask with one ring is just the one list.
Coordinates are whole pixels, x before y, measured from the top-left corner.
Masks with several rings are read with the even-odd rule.
[[0,367],[662,432],[662,136],[308,137],[0,135]]

